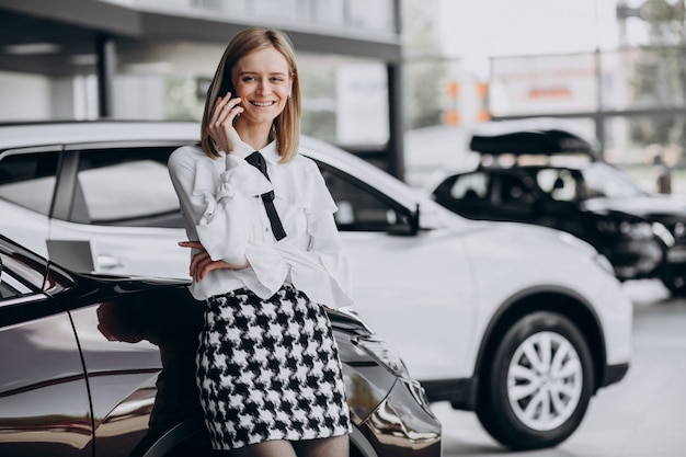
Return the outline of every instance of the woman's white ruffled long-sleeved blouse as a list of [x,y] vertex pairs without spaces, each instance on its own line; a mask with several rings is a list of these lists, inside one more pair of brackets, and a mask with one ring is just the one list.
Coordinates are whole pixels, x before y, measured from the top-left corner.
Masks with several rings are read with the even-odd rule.
[[[193,282],[191,293],[203,300],[248,287],[268,298],[290,281],[316,302],[351,305],[350,266],[333,219],[336,206],[317,164],[300,155],[279,163],[273,141],[260,150],[270,182],[244,160],[251,152],[243,144],[238,153],[211,159],[199,146],[183,146],[169,159],[188,240],[199,241],[215,261],[248,259],[251,265],[211,271]],[[260,197],[271,190],[286,231],[279,241]]]

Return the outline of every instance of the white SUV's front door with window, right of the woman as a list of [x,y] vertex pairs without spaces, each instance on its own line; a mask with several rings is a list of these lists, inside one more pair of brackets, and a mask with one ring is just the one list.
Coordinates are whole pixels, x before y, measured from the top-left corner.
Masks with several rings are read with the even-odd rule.
[[476,300],[461,239],[419,229],[419,209],[375,188],[373,175],[357,179],[323,163],[320,169],[339,207],[355,310],[399,350],[412,376],[466,376],[473,366],[467,355]]

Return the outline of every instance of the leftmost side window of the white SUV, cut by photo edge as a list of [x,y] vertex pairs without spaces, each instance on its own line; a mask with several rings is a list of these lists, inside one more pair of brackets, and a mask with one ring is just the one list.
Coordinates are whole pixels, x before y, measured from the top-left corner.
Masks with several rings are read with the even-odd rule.
[[59,152],[7,153],[0,159],[0,198],[48,216]]

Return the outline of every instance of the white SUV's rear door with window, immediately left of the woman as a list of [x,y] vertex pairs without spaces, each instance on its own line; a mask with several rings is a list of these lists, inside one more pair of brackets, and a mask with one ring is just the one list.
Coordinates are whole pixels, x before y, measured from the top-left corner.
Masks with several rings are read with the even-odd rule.
[[50,220],[52,259],[76,271],[187,277],[190,253],[167,171],[176,144],[81,145],[65,151]]

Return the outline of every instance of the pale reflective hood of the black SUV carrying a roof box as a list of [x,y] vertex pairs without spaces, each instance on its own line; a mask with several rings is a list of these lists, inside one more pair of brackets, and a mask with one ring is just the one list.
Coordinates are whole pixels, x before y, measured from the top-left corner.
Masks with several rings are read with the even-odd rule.
[[591,198],[584,209],[597,213],[624,213],[648,220],[678,218],[686,220],[686,202],[668,195],[644,195],[622,198]]

